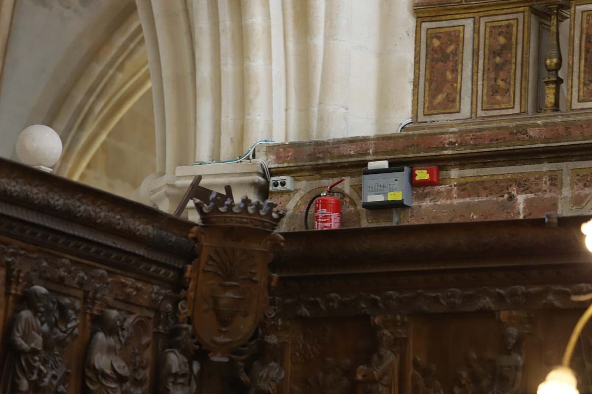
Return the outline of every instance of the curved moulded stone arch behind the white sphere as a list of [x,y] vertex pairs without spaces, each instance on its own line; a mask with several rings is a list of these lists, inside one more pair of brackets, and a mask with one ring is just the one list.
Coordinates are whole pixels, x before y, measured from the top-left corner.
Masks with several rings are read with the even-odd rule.
[[137,10],[89,61],[50,122],[62,131],[64,150],[56,173],[78,180],[96,149],[152,86]]

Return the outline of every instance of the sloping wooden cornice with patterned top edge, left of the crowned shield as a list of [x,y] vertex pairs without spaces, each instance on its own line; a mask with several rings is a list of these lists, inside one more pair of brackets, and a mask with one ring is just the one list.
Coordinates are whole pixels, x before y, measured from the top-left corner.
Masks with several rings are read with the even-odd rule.
[[7,159],[0,159],[0,202],[0,214],[82,239],[95,237],[115,249],[192,258],[187,235],[193,223]]

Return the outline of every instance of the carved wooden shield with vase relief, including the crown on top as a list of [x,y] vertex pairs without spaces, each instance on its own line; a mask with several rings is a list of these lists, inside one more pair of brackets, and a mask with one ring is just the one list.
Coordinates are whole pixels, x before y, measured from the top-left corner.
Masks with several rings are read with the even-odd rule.
[[209,204],[195,198],[194,203],[203,227],[189,235],[197,242],[198,258],[185,271],[179,318],[191,322],[212,360],[226,361],[268,309],[268,286],[274,282],[268,264],[284,246],[284,238],[272,232],[285,211],[274,210],[269,200],[253,203],[243,197],[234,203],[215,192]]

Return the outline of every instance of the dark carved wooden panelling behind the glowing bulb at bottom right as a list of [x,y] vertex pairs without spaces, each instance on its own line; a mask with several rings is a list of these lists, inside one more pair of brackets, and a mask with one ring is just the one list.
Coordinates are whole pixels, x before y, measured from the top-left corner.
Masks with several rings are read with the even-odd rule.
[[[505,313],[412,317],[412,382],[421,385],[427,374],[443,393],[535,393],[561,363],[580,311]],[[591,338],[584,333],[571,364],[581,393],[592,392],[586,372]]]

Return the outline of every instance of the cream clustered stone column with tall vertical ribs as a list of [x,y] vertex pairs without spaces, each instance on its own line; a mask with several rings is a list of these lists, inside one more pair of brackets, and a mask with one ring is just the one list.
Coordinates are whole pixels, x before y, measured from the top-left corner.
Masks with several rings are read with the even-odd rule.
[[[394,133],[411,118],[411,0],[136,2],[159,163],[143,197],[160,209],[184,194],[178,167],[239,157],[261,139]],[[255,173],[244,175],[250,197]]]

